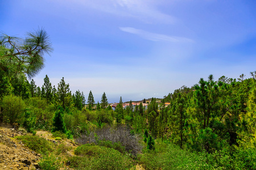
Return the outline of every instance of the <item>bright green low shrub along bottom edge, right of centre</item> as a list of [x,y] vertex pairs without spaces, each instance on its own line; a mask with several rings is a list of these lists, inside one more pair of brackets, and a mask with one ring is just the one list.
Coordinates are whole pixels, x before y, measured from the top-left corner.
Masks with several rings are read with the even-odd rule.
[[155,145],[155,151],[145,151],[138,155],[138,162],[145,169],[214,169],[214,164],[208,163],[208,154],[191,153],[160,140]]

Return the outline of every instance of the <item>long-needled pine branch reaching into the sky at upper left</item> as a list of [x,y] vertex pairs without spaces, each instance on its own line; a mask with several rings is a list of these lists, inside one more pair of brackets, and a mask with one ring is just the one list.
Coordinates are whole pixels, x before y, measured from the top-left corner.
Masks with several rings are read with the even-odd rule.
[[[52,52],[47,32],[42,28],[28,32],[25,39],[0,34],[0,70],[18,77],[35,76],[44,67],[44,54]],[[0,50],[1,51],[1,50]]]

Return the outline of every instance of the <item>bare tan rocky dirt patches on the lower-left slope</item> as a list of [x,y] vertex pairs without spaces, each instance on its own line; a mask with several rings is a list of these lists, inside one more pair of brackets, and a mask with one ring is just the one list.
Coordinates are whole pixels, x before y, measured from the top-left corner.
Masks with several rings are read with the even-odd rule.
[[[24,135],[26,131],[12,129],[9,126],[0,125],[0,169],[39,169],[38,162],[42,156],[23,145],[22,142],[15,139],[15,136]],[[36,135],[46,138],[48,141],[56,142],[49,131],[36,131]],[[77,147],[69,139],[62,141],[66,146],[71,147],[67,152],[68,156],[74,156],[74,150]],[[69,169],[68,167],[63,169]],[[137,170],[143,170],[140,165],[136,165]]]

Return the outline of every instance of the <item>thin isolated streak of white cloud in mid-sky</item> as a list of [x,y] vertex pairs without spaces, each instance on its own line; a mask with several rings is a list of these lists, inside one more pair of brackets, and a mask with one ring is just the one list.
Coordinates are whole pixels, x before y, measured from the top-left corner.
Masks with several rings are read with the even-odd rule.
[[119,29],[121,29],[121,31],[133,33],[142,37],[143,39],[151,41],[193,42],[193,40],[184,37],[167,36],[159,33],[147,32],[142,29],[135,29],[132,27],[119,27]]

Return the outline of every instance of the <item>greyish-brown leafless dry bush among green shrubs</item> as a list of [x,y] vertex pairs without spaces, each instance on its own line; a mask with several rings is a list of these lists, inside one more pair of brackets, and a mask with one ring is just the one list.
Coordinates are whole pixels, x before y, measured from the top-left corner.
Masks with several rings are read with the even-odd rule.
[[90,131],[89,134],[80,135],[76,139],[77,143],[84,145],[85,143],[98,143],[98,141],[107,140],[112,142],[120,142],[125,150],[134,156],[141,151],[142,146],[139,143],[139,136],[130,133],[130,128],[125,125],[115,127],[104,126],[103,128]]

